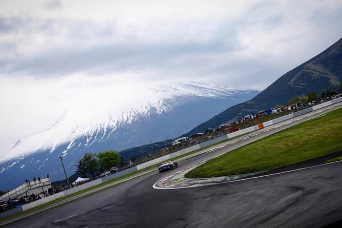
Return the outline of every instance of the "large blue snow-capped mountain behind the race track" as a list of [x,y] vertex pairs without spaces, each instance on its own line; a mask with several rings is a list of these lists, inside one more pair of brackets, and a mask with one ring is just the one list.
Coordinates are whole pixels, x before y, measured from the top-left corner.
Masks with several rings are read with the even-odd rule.
[[[182,83],[134,88],[106,102],[84,102],[65,111],[53,126],[17,141],[0,158],[0,188],[12,188],[25,178],[62,179],[60,160],[69,175],[86,152],[122,151],[184,134],[199,123],[258,91],[206,83]],[[215,127],[215,126],[213,126]],[[122,154],[125,157],[125,154]]]

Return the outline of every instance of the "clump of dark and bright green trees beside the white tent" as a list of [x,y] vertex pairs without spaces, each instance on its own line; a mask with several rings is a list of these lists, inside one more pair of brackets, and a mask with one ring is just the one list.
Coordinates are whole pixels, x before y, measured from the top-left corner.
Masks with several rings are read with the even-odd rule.
[[95,177],[112,167],[122,165],[123,158],[116,151],[110,150],[98,154],[86,153],[76,164],[76,173],[81,177]]

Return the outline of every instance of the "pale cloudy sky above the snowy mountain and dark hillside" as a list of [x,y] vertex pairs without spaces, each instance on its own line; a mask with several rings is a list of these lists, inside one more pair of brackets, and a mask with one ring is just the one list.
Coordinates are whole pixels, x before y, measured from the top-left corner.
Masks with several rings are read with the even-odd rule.
[[341,38],[341,22],[342,1],[2,0],[0,154],[111,86],[263,90]]

